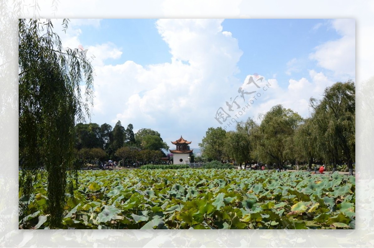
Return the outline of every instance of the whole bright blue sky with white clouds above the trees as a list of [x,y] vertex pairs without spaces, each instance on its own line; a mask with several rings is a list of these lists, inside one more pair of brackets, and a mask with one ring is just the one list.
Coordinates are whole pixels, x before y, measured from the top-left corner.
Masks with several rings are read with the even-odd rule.
[[[198,147],[209,127],[233,130],[276,104],[307,117],[310,97],[355,80],[353,19],[71,19],[59,34],[92,57],[92,122],[151,128],[171,147],[181,135]],[[255,94],[238,88],[256,90],[255,73],[261,96],[242,110]],[[220,124],[220,107],[237,117]]]

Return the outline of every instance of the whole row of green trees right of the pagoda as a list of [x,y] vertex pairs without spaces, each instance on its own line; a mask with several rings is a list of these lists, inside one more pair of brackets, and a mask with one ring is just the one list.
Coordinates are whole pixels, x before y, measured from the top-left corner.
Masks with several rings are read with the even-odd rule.
[[355,83],[337,82],[310,99],[310,117],[303,119],[291,109],[275,105],[260,114],[237,122],[235,131],[208,128],[199,146],[202,157],[247,165],[262,162],[282,167],[325,164],[335,171],[346,163],[353,175],[355,162]]

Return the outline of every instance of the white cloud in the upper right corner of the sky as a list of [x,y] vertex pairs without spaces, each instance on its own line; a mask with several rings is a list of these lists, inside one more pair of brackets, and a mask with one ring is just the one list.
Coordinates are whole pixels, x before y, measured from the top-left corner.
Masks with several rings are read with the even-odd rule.
[[[318,65],[331,70],[336,76],[355,77],[355,20],[335,19],[331,26],[342,37],[317,46],[309,58],[315,59]],[[342,76],[343,75],[343,76]]]

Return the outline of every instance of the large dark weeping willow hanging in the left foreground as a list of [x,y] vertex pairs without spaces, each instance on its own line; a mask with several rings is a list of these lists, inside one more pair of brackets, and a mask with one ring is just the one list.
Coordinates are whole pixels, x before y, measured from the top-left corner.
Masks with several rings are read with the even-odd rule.
[[[68,20],[62,21],[66,31]],[[74,125],[90,118],[92,66],[83,51],[62,48],[47,19],[19,19],[20,217],[35,180],[47,177],[47,223],[58,228],[66,190],[73,192]],[[81,92],[85,86],[84,92]],[[67,182],[71,183],[67,183]]]

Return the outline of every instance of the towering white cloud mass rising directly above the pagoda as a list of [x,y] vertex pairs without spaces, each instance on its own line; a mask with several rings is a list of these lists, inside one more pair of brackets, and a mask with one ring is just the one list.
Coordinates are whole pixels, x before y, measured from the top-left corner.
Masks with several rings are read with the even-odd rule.
[[[133,61],[97,64],[94,113],[110,118],[111,125],[120,120],[137,128],[159,128],[163,134],[193,132],[192,139],[201,139],[206,125],[217,126],[215,111],[237,95],[232,85],[240,85],[234,74],[242,51],[231,33],[222,31],[222,21],[158,20],[156,27],[170,48],[171,62],[144,67]],[[120,55],[115,46],[95,49],[102,60],[101,53],[107,50],[113,58]],[[89,52],[96,55],[95,49],[89,47]]]

